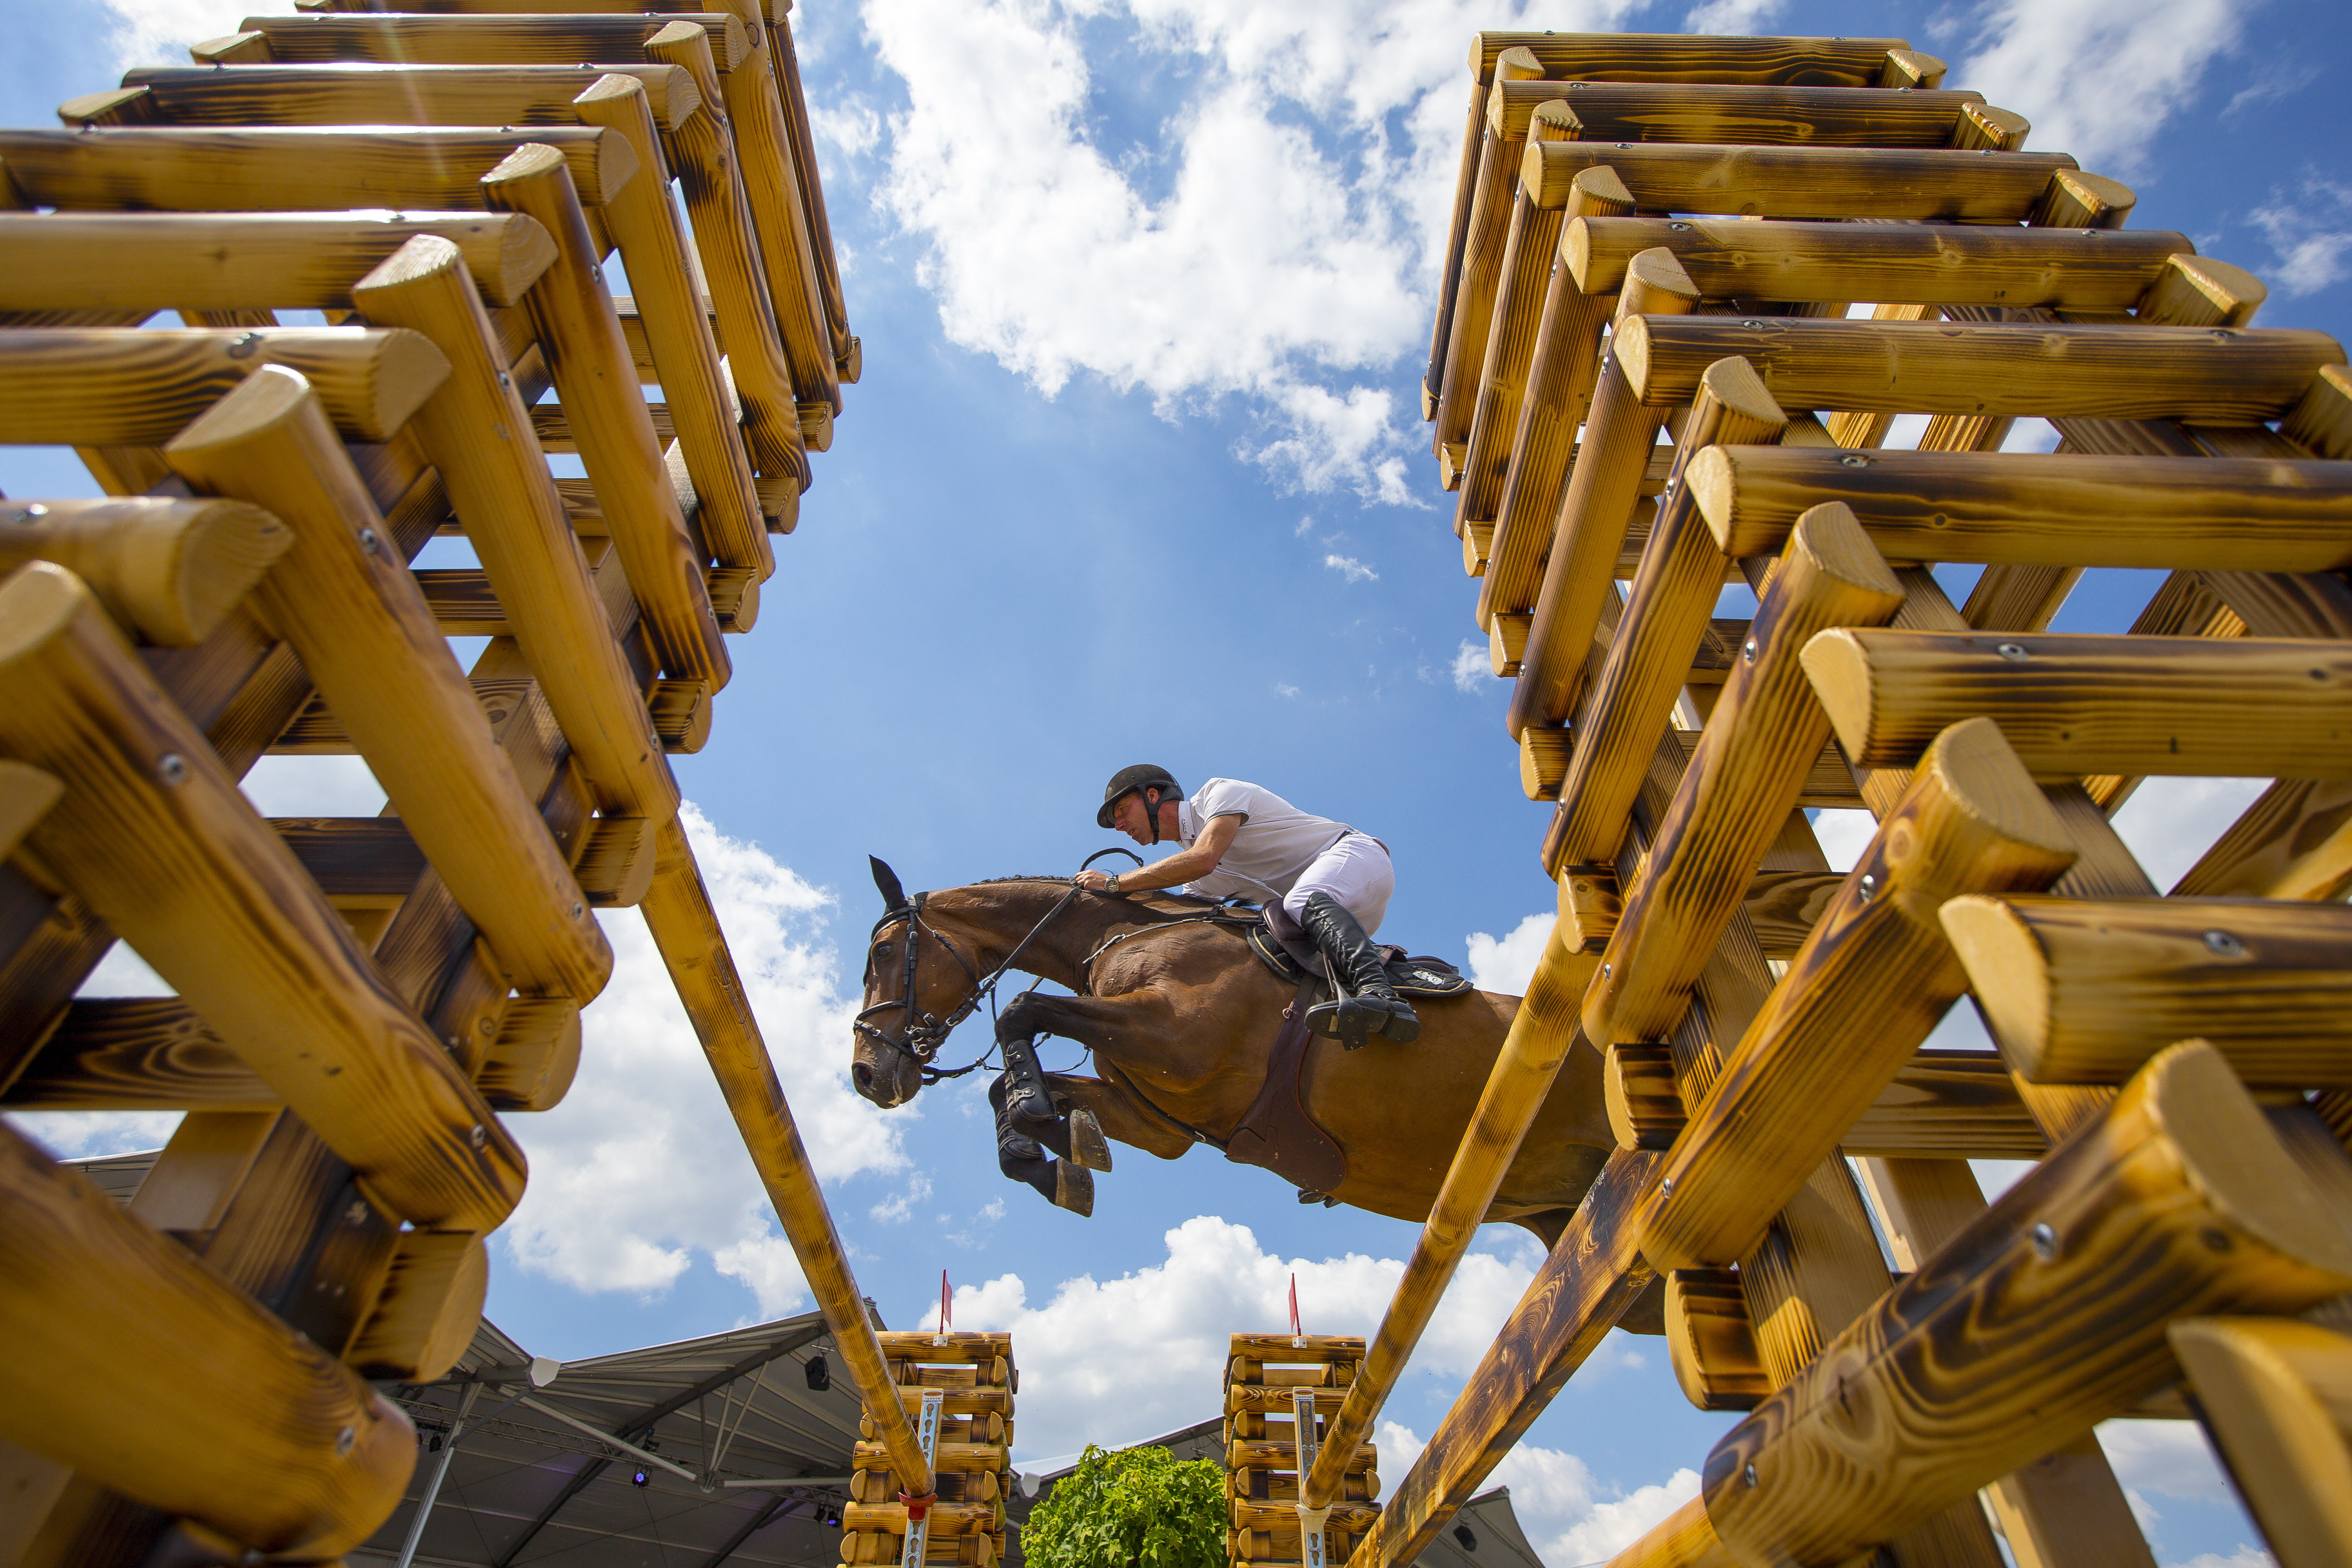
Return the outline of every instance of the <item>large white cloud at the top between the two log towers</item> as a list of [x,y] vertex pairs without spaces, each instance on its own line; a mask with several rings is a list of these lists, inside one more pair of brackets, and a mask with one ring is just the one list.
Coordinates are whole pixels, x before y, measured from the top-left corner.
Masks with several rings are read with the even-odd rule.
[[[1552,5],[1543,24],[1635,5]],[[1404,505],[1414,437],[1383,383],[1428,341],[1461,49],[1524,9],[868,0],[908,92],[877,200],[924,242],[950,341],[1047,395],[1091,371],[1167,416],[1247,397],[1270,433],[1242,456],[1279,482]],[[1112,35],[1150,71],[1098,85],[1087,38]],[[1185,96],[1120,146],[1112,108],[1143,113],[1138,75]]]

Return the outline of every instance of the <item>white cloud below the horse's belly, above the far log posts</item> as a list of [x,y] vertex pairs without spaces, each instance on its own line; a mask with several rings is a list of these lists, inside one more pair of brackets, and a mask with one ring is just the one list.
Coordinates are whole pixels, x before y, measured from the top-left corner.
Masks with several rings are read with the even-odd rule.
[[[1411,1375],[1470,1373],[1536,1274],[1534,1241],[1470,1253],[1446,1291]],[[1397,1258],[1277,1258],[1247,1225],[1197,1215],[1167,1232],[1167,1262],[1096,1281],[1065,1279],[1030,1305],[1018,1274],[957,1286],[957,1328],[1009,1328],[1030,1368],[1021,1394],[1021,1453],[1063,1455],[1087,1443],[1134,1443],[1190,1427],[1218,1408],[1228,1335],[1289,1321],[1289,1284],[1308,1333],[1371,1333],[1404,1272]],[[931,1321],[936,1298],[901,1302],[894,1324]],[[1402,1476],[1402,1472],[1397,1472]],[[1583,1561],[1583,1559],[1571,1559]]]

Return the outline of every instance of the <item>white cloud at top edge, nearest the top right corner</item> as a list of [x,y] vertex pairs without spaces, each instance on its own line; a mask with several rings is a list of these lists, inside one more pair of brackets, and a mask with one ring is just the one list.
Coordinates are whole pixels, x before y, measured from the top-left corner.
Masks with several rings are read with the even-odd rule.
[[2032,120],[2032,146],[2131,179],[2157,127],[2237,47],[2241,12],[2232,0],[1992,0],[1962,24],[1992,42],[1950,80]]

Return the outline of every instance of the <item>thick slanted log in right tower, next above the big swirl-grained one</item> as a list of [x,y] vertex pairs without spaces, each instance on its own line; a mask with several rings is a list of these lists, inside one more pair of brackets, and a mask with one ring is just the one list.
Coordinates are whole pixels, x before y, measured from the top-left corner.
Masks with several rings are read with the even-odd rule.
[[1651,1265],[1738,1260],[1896,1079],[1966,987],[1936,922],[1945,898],[2044,889],[2072,863],[1999,729],[1943,736],[1675,1140],[1672,1190],[1642,1220]]

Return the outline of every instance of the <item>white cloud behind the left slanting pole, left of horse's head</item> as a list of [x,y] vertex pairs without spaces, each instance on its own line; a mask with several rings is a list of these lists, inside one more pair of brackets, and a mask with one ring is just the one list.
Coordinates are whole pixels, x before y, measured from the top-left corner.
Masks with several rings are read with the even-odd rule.
[[[743,990],[816,1173],[840,1182],[906,1168],[908,1117],[858,1100],[847,1079],[854,999],[823,940],[830,898],[757,844],[720,835],[691,804],[703,867]],[[506,1225],[515,1262],[579,1291],[659,1293],[703,1253],[762,1312],[802,1300],[760,1178],[720,1100],[654,938],[633,910],[604,917],[614,976],[581,1016],[581,1070],[550,1112],[510,1117],[532,1185]]]

